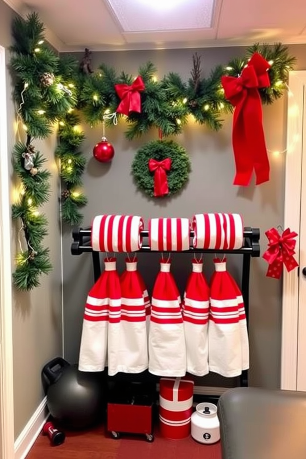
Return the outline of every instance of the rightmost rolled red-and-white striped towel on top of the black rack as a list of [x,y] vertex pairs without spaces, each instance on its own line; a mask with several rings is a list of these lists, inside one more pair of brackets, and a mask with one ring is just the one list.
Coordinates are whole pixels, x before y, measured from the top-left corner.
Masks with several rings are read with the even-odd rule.
[[193,217],[195,249],[233,250],[243,245],[244,225],[238,213],[200,213]]

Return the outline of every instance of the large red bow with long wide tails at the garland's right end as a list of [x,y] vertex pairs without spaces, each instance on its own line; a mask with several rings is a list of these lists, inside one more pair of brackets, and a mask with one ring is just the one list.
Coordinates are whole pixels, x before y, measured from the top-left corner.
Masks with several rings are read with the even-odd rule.
[[238,78],[221,78],[225,96],[235,107],[232,133],[236,164],[234,185],[249,185],[253,169],[256,185],[269,180],[270,166],[258,92],[258,88],[270,86],[269,68],[270,64],[259,53],[254,53]]

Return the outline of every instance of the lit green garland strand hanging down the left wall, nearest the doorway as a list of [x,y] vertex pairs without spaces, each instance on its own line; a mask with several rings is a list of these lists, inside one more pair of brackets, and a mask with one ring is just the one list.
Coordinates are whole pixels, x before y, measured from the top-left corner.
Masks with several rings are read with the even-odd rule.
[[[43,168],[46,159],[33,144],[36,139],[49,137],[54,123],[75,106],[77,99],[71,81],[77,63],[71,57],[61,60],[45,44],[44,26],[36,13],[27,20],[17,17],[12,34],[14,98],[17,119],[26,134],[26,141],[17,142],[13,150],[19,185],[12,218],[17,222],[20,243],[13,281],[18,290],[31,290],[39,286],[40,275],[52,269],[49,249],[43,246],[48,224],[45,215],[39,212],[50,196],[50,173]],[[30,166],[26,163],[28,159]]]

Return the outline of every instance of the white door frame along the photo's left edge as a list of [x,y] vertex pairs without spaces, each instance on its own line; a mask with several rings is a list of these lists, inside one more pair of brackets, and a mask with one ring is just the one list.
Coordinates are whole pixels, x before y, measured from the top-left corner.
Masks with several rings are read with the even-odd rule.
[[0,429],[2,458],[14,458],[10,168],[6,119],[6,51],[0,46]]

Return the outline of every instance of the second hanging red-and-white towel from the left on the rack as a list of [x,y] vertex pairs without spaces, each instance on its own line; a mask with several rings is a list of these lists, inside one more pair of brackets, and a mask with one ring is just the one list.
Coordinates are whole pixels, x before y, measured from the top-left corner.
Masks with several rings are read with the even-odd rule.
[[147,330],[143,285],[137,259],[126,260],[120,276],[121,310],[109,325],[108,374],[141,373],[148,368]]

